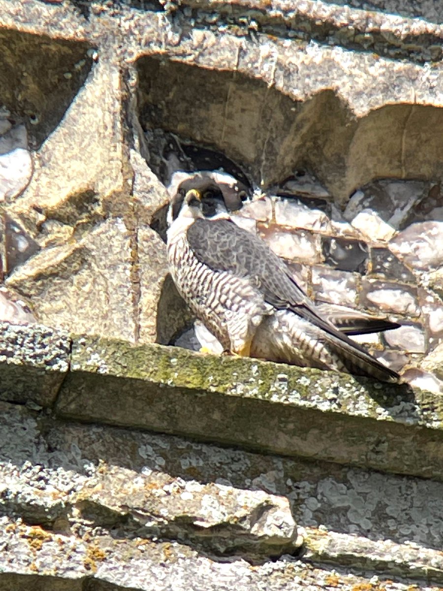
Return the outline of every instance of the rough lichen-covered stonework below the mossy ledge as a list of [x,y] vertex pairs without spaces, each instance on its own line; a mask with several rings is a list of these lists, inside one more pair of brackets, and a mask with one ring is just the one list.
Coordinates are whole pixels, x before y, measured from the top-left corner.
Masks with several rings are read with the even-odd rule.
[[[442,582],[439,482],[64,423],[4,402],[0,433],[5,589],[40,577],[57,590],[83,589],[85,577],[92,589],[144,590],[177,580],[202,590],[233,582],[252,590],[265,580],[267,589],[294,591]],[[268,515],[280,504],[297,520],[300,557],[269,545],[271,561],[251,553],[241,535],[231,537],[239,542],[234,556],[220,555],[223,529],[204,524],[222,519],[234,529],[247,499],[268,499]],[[201,525],[193,528],[195,506]],[[149,514],[154,523],[146,523]],[[263,514],[255,518],[253,527]],[[151,537],[153,529],[159,535]]]

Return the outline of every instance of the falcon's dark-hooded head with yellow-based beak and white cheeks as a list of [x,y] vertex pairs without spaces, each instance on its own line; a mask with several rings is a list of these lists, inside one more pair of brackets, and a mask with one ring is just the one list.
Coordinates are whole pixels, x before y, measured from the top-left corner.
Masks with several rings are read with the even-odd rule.
[[243,183],[229,174],[210,171],[175,173],[168,192],[168,226],[178,217],[229,217],[248,197]]

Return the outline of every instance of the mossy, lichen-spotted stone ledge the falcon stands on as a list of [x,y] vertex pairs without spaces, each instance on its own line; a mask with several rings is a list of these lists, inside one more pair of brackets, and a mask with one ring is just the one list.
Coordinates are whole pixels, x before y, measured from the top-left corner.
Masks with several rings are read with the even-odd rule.
[[73,336],[69,357],[63,333],[2,326],[2,400],[54,405],[63,418],[443,480],[438,395],[103,337]]

